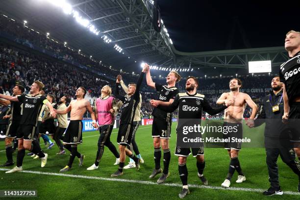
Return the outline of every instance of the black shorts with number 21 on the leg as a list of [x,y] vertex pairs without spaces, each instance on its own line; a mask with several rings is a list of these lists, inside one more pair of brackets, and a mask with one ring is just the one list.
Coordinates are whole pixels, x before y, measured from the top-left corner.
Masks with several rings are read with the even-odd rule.
[[154,117],[152,123],[152,137],[160,137],[163,139],[171,138],[171,122],[166,122]]

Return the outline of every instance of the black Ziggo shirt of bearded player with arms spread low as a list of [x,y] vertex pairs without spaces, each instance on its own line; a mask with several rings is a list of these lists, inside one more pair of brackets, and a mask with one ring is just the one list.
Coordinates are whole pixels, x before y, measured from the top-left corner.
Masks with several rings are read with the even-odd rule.
[[222,105],[214,109],[210,106],[204,95],[198,93],[194,95],[178,93],[170,106],[158,106],[158,108],[167,112],[173,112],[178,108],[178,123],[180,119],[200,119],[199,122],[201,124],[202,110],[210,115],[215,115],[225,110],[227,106]]

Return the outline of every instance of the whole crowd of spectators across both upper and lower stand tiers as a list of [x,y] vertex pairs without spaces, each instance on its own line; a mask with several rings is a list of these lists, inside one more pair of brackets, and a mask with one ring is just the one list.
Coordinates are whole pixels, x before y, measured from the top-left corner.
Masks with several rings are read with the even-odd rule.
[[[111,70],[108,67],[100,65],[93,61],[88,56],[83,56],[78,53],[78,50],[72,50],[63,44],[57,43],[46,36],[46,34],[37,33],[25,25],[12,21],[9,18],[0,16],[0,31],[5,31],[22,40],[27,40],[31,44],[55,54],[57,59],[71,60],[81,65],[100,70],[102,74],[107,74],[116,77],[120,72]],[[167,72],[166,72],[167,73]],[[126,83],[134,82],[136,77],[123,73]],[[267,94],[267,89],[270,88],[271,77],[238,77],[243,81],[243,88],[261,88],[262,91],[245,91],[250,97],[259,104],[262,97]],[[220,95],[229,88],[230,78],[207,78],[200,79],[199,90],[209,100],[213,107],[216,106],[216,101]],[[270,80],[269,80],[270,79]],[[103,85],[114,86],[115,82],[109,79],[93,75],[88,72],[80,71],[71,64],[62,62],[53,62],[46,57],[38,56],[32,52],[19,50],[7,44],[0,44],[0,93],[11,94],[12,87],[16,83],[21,83],[26,86],[28,92],[30,84],[34,80],[41,80],[45,84],[46,94],[55,96],[56,101],[62,95],[68,95],[71,99],[74,98],[75,90],[79,86],[84,86],[88,90],[86,98],[93,102],[100,95],[100,89]],[[166,79],[156,78],[157,83],[165,84]],[[176,84],[176,87],[183,92],[185,90],[185,80],[181,80]],[[155,99],[156,93],[143,84],[142,86],[142,109],[143,118],[150,118],[152,107],[150,100]],[[209,92],[207,92],[209,91]],[[176,116],[176,113],[175,113]],[[222,116],[222,114],[221,114]],[[250,116],[250,108],[246,107],[244,117]]]

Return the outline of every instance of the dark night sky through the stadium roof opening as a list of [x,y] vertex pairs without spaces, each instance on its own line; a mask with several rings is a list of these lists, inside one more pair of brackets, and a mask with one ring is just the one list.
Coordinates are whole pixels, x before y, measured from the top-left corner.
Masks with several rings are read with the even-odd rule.
[[180,51],[277,47],[283,46],[289,30],[300,31],[299,0],[158,0],[158,4]]

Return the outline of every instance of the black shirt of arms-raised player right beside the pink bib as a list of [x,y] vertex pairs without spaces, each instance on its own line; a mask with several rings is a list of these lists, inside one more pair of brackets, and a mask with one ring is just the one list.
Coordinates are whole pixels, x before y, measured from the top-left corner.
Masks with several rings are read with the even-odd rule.
[[120,83],[116,84],[115,88],[115,96],[117,99],[122,100],[123,106],[122,106],[122,113],[120,118],[120,125],[123,124],[132,124],[134,113],[136,110],[137,105],[140,102],[140,87],[142,84],[143,76],[145,73],[141,72],[137,82],[136,82],[136,90],[133,95],[128,97],[127,95],[124,97],[119,94],[119,86]]

